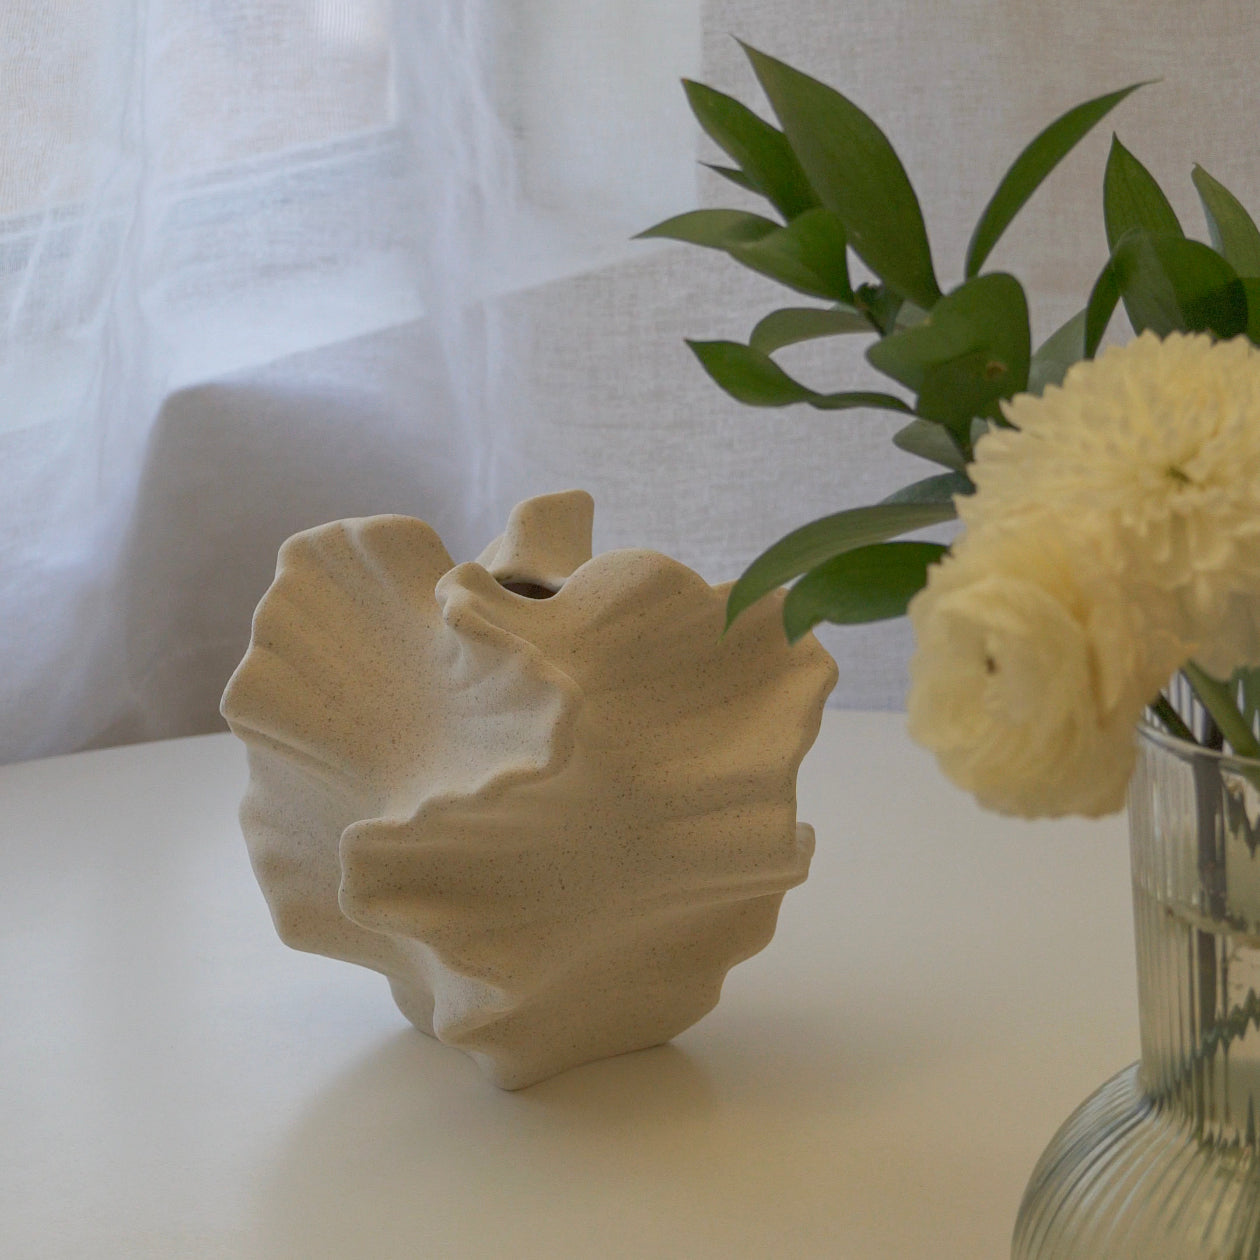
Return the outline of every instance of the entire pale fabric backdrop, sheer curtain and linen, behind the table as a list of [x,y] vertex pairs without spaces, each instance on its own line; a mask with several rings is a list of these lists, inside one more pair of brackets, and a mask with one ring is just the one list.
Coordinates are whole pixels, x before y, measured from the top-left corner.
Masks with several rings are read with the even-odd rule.
[[[1034,336],[1105,258],[1110,126],[1189,228],[1194,161],[1260,207],[1249,0],[6,0],[0,10],[0,761],[218,730],[289,534],[402,512],[474,557],[582,486],[596,548],[711,581],[922,475],[886,413],[745,408],[684,336],[794,299],[635,242],[751,204],[678,79],[761,105],[738,37],[885,127],[945,287],[1027,140],[1160,78],[990,267]],[[785,352],[819,388],[864,339]],[[834,703],[897,708],[903,622],[823,634]]]

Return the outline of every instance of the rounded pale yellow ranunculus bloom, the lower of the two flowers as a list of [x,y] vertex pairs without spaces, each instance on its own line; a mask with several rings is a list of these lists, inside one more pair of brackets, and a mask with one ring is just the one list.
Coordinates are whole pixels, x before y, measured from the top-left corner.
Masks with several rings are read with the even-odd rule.
[[988,809],[1099,816],[1183,649],[1109,593],[1082,539],[1028,525],[969,533],[911,602],[910,733]]

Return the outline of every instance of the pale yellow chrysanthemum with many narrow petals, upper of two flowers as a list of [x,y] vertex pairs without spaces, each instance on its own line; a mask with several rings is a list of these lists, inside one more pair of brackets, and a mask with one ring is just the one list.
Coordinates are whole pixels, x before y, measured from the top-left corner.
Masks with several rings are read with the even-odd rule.
[[1056,518],[1210,672],[1260,663],[1260,350],[1144,333],[1004,411],[969,529]]

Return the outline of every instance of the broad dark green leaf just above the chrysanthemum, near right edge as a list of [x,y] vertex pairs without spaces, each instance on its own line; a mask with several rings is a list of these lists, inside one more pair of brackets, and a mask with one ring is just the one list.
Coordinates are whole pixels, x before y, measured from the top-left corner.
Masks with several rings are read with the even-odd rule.
[[1228,338],[1246,331],[1246,291],[1235,270],[1208,246],[1135,228],[1125,234],[1111,262],[1135,333]]

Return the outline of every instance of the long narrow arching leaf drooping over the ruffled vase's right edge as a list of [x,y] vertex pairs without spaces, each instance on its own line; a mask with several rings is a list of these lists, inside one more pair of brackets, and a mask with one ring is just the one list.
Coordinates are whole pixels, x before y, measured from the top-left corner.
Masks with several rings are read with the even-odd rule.
[[727,597],[726,624],[730,626],[761,596],[840,552],[939,525],[942,520],[953,520],[954,515],[951,503],[877,503],[811,520],[780,538],[745,570]]

